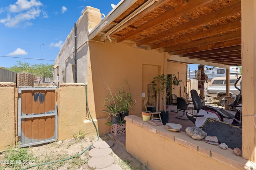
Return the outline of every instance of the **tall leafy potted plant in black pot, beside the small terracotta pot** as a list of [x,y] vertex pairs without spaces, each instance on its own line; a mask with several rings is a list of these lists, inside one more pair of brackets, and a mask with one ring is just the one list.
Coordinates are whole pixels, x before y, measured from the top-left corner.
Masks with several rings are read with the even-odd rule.
[[[158,75],[153,77],[152,81],[152,89],[156,92],[156,95],[159,97],[158,110],[163,109],[161,111],[161,118],[163,124],[168,123],[169,113],[166,113],[166,97],[167,94],[172,94],[172,90],[174,90],[174,86],[178,86],[182,80],[178,80],[175,74],[169,74],[168,76],[165,74]],[[162,105],[161,105],[162,104]]]

